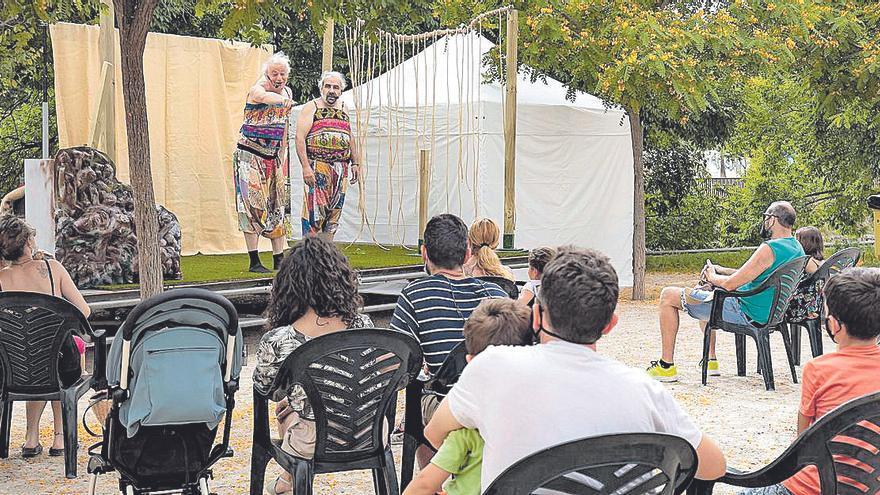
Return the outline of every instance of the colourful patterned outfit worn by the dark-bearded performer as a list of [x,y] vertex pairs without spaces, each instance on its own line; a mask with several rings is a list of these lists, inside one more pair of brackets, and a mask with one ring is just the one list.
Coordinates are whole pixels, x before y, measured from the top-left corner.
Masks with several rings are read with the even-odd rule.
[[345,203],[345,179],[351,162],[351,124],[345,110],[315,109],[312,128],[306,135],[306,155],[315,172],[316,185],[305,186],[303,236],[334,234]]

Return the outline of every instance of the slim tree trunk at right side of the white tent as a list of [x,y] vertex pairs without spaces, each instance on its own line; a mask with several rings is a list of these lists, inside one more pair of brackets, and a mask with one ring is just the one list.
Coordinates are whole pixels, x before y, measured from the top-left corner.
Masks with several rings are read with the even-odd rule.
[[633,295],[635,301],[645,299],[645,129],[638,108],[627,109],[633,147]]

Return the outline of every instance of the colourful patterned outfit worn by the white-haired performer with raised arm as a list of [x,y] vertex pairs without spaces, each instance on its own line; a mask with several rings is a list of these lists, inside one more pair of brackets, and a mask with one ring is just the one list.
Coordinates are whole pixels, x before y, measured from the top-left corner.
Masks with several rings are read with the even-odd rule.
[[238,228],[269,239],[287,231],[290,106],[246,103],[232,156]]

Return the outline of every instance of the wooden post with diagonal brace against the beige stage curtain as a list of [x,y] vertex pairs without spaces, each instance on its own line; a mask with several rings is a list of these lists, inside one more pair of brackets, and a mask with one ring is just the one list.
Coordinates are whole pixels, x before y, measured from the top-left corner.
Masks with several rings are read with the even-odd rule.
[[[101,9],[101,31],[98,35],[98,50],[103,62],[102,68],[109,74],[110,84],[104,84],[102,78],[101,99],[97,119],[101,120],[101,127],[95,135],[96,141],[103,140],[104,152],[116,163],[116,32],[115,13],[113,2],[103,0]],[[109,67],[104,67],[109,64]]]

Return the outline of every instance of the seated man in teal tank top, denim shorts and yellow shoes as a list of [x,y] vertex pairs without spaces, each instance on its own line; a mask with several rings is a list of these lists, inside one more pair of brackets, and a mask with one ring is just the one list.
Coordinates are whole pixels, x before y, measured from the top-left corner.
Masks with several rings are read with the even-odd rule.
[[[746,263],[738,269],[713,265],[707,260],[703,268],[703,279],[714,287],[726,290],[748,291],[761,285],[779,266],[804,255],[800,243],[791,235],[795,221],[795,211],[787,201],[777,201],[767,207],[761,221],[761,237],[766,239]],[[678,380],[675,368],[675,339],[678,335],[679,312],[686,311],[689,316],[700,320],[705,331],[712,312],[712,291],[666,287],[660,293],[660,334],[662,355],[659,361],[652,361],[648,374],[662,382]],[[722,318],[728,323],[751,325],[764,324],[770,318],[773,304],[773,291],[766,290],[754,296],[727,298],[724,300]],[[710,335],[709,375],[718,376],[718,361],[715,358],[715,332]]]

